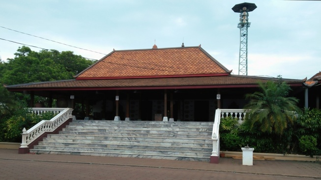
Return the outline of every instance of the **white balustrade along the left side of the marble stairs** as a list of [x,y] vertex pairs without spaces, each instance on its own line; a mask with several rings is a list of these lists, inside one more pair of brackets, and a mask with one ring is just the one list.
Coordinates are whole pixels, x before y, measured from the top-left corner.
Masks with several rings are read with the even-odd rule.
[[28,145],[43,133],[53,132],[66,120],[72,118],[72,111],[73,109],[71,108],[32,108],[31,112],[37,115],[40,115],[44,112],[59,112],[59,114],[51,120],[41,120],[28,131],[26,128],[24,128],[22,130],[22,143],[20,148],[28,148]]

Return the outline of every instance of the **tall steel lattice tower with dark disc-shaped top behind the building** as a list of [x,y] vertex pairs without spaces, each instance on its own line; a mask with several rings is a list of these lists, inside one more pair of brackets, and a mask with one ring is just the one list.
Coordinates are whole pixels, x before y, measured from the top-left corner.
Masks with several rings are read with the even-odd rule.
[[240,30],[240,44],[239,44],[239,60],[238,60],[238,75],[247,76],[247,35],[248,28],[250,28],[251,23],[249,22],[249,12],[256,9],[255,3],[240,3],[234,5],[232,10],[234,12],[240,13],[239,23],[237,28]]

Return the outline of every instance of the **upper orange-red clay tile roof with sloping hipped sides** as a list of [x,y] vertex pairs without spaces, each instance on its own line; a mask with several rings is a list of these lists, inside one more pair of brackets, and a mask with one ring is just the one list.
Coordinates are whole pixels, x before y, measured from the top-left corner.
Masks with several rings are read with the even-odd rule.
[[201,47],[113,51],[76,79],[126,79],[229,75],[226,67]]

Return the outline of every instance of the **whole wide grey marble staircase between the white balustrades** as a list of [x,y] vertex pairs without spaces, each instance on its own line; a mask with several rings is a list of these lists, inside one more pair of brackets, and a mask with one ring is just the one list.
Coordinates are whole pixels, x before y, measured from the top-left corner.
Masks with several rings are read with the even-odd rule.
[[73,120],[30,152],[209,161],[213,122]]

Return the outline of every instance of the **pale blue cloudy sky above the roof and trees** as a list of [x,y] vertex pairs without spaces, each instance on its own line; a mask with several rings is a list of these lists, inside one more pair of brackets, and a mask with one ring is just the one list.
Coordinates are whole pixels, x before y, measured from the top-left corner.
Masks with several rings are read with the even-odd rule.
[[2,0],[0,58],[14,58],[22,46],[6,40],[96,60],[113,49],[184,42],[201,44],[237,75],[239,13],[232,7],[243,2],[257,5],[249,12],[248,75],[309,79],[321,71],[320,0]]

